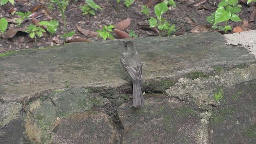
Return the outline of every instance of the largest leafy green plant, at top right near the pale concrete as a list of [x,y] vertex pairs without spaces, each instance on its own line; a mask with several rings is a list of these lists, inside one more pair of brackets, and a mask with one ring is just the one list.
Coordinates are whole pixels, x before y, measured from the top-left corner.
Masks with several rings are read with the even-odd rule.
[[[211,16],[207,17],[207,21],[213,24],[212,28],[223,30],[225,33],[228,30],[232,30],[231,26],[227,24],[228,20],[233,22],[241,22],[242,20],[236,14],[241,12],[241,5],[238,4],[238,0],[222,0],[218,4],[218,8]],[[226,8],[226,9],[225,9]],[[225,26],[217,26],[216,24],[224,22]]]

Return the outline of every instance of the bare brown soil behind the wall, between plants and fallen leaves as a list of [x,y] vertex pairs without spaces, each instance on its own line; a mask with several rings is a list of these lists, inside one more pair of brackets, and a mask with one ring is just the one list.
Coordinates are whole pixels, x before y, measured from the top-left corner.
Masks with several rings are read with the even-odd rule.
[[[138,29],[140,25],[148,25],[148,19],[150,17],[155,17],[154,14],[154,4],[149,8],[149,17],[147,18],[140,10],[142,9],[142,5],[146,0],[134,0],[134,3],[130,6],[130,8],[126,8],[124,6],[124,2],[121,1],[119,4],[119,11],[116,11],[117,2],[116,0],[94,0],[96,4],[98,4],[102,10],[97,10],[95,16],[92,15],[83,15],[82,10],[80,10],[80,6],[84,4],[83,0],[79,0],[78,2],[74,2],[74,0],[69,1],[69,5],[66,7],[65,16],[66,16],[66,24],[67,31],[75,31],[74,36],[80,38],[87,38],[89,40],[103,40],[98,37],[88,37],[84,36],[82,33],[78,31],[77,25],[81,26],[81,28],[85,30],[90,30],[95,32],[96,30],[101,30],[104,25],[114,25],[126,18],[130,18],[130,25],[128,28],[125,28],[123,31],[129,32],[130,30],[134,30],[134,32],[139,37],[147,37],[147,36],[158,36],[158,33],[155,31]],[[169,8],[168,12],[164,14],[164,18],[168,20],[171,24],[175,24],[176,28],[180,27],[177,30],[176,35],[190,33],[190,31],[202,24],[209,24],[206,20],[207,16],[210,16],[212,12],[214,12],[217,8],[218,3],[221,0],[174,0],[176,2],[176,8]],[[200,4],[200,2],[204,1],[205,3]],[[6,5],[1,6],[0,9],[0,17],[5,17],[8,19],[18,18],[16,14],[12,15],[8,13],[8,10],[11,8],[18,8],[21,11],[30,10],[34,6],[46,6],[48,8],[49,2],[46,0],[30,0],[25,2],[15,2],[14,6]],[[242,12],[239,13],[241,20],[248,20],[250,15],[252,14],[255,6],[247,6],[246,4],[240,2],[242,5]],[[42,9],[38,9],[36,12],[40,12]],[[0,37],[0,53],[17,51],[27,48],[44,48],[48,46],[59,45],[60,42],[56,42],[59,38],[58,36],[63,34],[64,24],[62,21],[62,16],[60,14],[60,10],[55,6],[53,9],[48,8],[48,14],[52,17],[53,20],[57,20],[59,22],[58,30],[53,36],[46,36],[31,39],[28,33],[25,32],[17,32],[15,36],[12,38],[3,38],[4,34]],[[37,18],[39,21],[50,21],[50,19],[46,16],[42,16]],[[188,21],[188,20],[192,20]],[[28,26],[32,23],[32,20],[26,20],[22,23],[20,27]],[[12,24],[8,23],[8,27]],[[242,22],[228,22],[232,28],[236,26],[240,26]],[[14,24],[15,26],[15,24]],[[255,29],[255,27],[250,28]],[[112,33],[114,38],[119,39],[114,32]],[[55,37],[54,37],[55,36]]]

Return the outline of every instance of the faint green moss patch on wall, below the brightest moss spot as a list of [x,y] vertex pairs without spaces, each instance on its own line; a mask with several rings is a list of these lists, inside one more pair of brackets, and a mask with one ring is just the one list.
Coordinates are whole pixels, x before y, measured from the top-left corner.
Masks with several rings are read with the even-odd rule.
[[210,122],[217,124],[218,122],[223,122],[229,115],[233,114],[236,110],[236,107],[232,106],[229,108],[222,108],[219,112],[215,111],[212,113]]

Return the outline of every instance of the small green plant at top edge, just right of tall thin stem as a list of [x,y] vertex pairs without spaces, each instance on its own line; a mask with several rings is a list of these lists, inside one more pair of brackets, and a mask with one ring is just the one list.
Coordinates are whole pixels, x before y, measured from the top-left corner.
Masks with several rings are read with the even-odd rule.
[[83,11],[83,14],[86,15],[88,13],[95,15],[94,10],[102,10],[102,8],[95,4],[95,2],[93,2],[92,0],[85,0],[85,5],[81,6],[80,9]]

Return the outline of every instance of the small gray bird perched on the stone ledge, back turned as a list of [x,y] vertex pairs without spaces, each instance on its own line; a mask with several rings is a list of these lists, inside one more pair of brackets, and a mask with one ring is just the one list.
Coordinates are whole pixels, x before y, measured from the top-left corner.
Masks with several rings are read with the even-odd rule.
[[133,87],[133,106],[140,108],[145,105],[141,92],[140,84],[142,83],[142,64],[140,55],[136,51],[133,42],[124,42],[125,51],[122,53],[121,64],[126,73],[132,78]]

